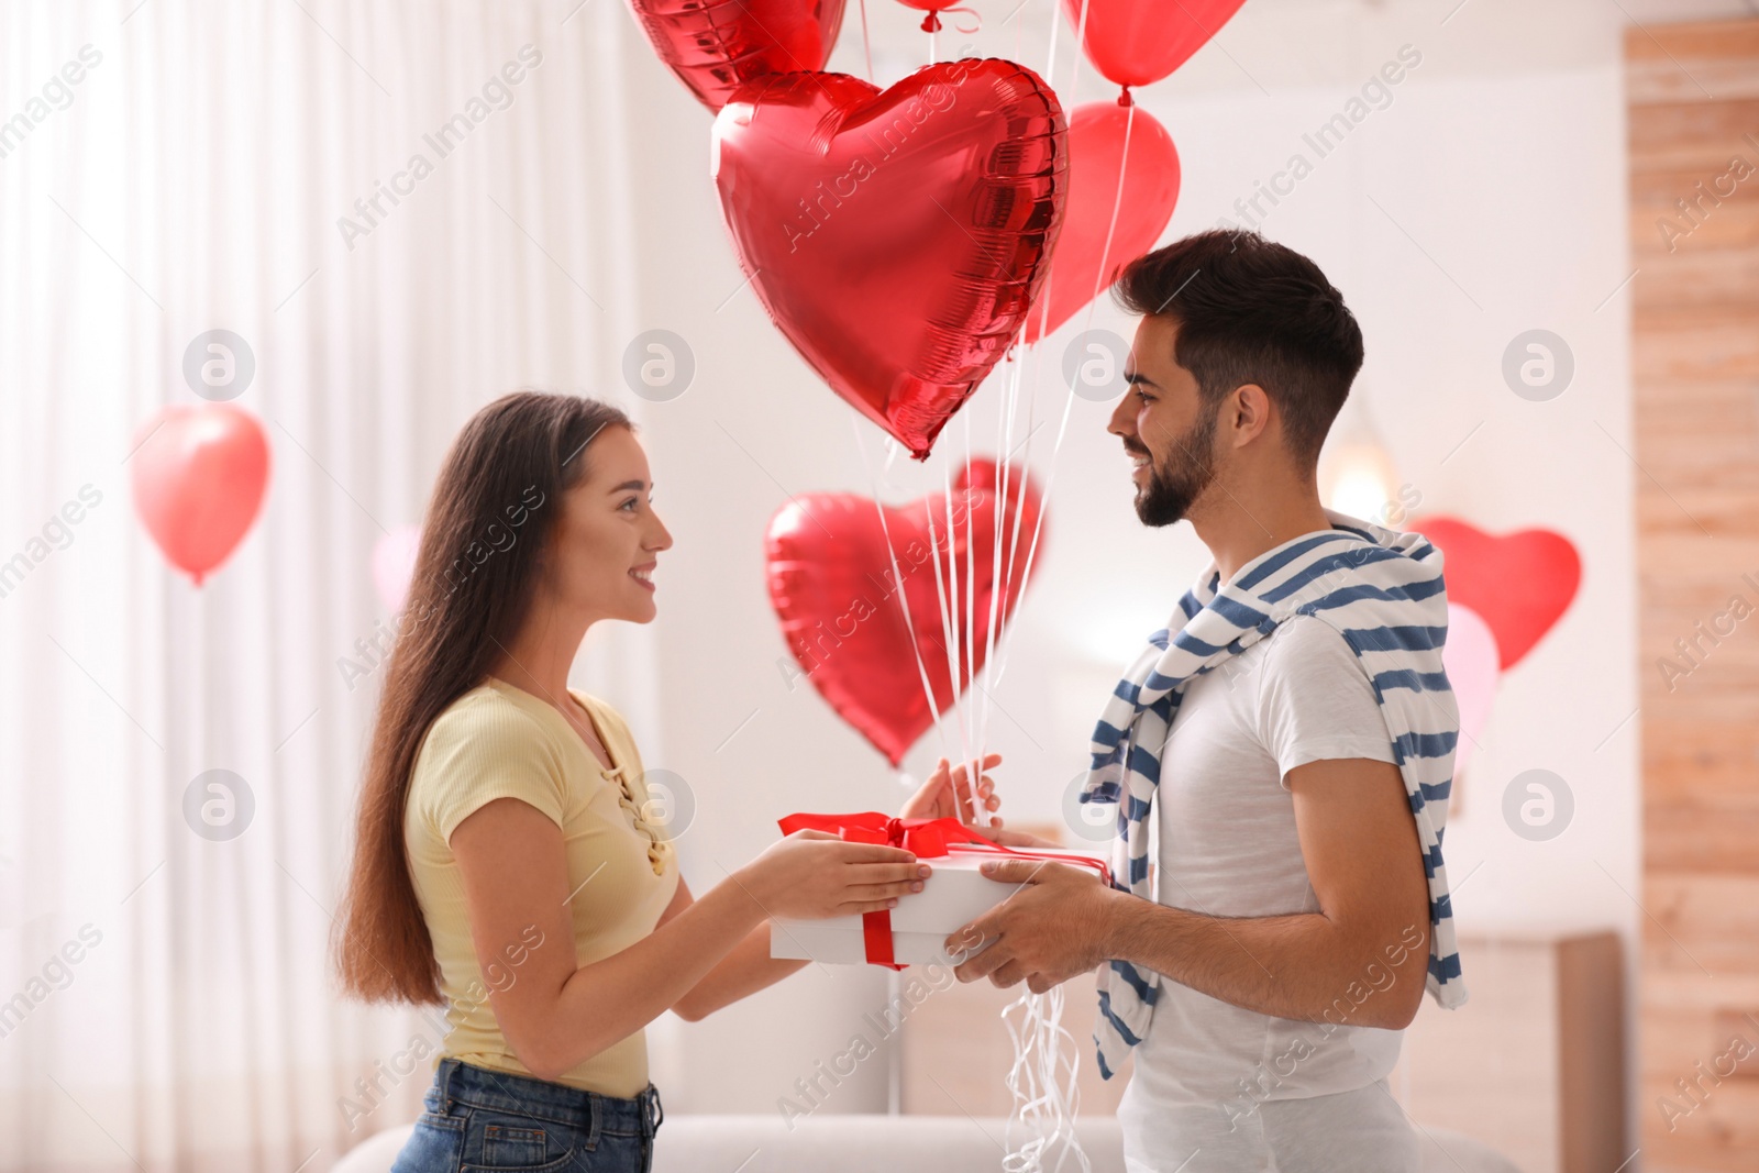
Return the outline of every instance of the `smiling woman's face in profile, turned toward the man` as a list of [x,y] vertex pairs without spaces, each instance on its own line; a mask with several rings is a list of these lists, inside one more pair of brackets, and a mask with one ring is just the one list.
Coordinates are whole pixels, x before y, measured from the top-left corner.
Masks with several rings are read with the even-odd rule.
[[589,621],[647,623],[656,614],[656,554],[672,545],[653,510],[647,454],[628,427],[605,427],[582,459],[589,473],[561,494],[551,535],[549,593]]

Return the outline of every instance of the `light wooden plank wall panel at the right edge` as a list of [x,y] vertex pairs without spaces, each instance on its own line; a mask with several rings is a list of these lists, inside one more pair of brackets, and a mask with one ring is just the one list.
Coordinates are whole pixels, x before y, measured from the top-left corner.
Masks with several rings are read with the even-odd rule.
[[[1643,468],[1639,1162],[1759,1169],[1759,21],[1632,28],[1625,86]],[[1752,614],[1724,617],[1719,642],[1682,661],[1675,642],[1734,596]],[[1690,672],[1669,679],[1664,659]]]

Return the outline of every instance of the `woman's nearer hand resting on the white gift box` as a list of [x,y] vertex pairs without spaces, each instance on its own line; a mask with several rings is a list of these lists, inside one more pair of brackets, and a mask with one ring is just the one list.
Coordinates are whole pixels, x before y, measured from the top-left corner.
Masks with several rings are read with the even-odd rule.
[[821,830],[797,830],[744,867],[746,890],[763,914],[816,920],[897,907],[922,892],[929,865],[902,848],[844,842]]

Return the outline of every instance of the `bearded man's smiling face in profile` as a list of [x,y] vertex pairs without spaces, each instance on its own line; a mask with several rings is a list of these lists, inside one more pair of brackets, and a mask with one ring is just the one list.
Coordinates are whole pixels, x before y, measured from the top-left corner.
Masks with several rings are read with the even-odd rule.
[[1138,461],[1131,480],[1145,526],[1184,519],[1215,480],[1215,408],[1203,404],[1196,378],[1173,361],[1177,334],[1179,324],[1168,317],[1145,317],[1136,325],[1124,366],[1129,390],[1106,424]]

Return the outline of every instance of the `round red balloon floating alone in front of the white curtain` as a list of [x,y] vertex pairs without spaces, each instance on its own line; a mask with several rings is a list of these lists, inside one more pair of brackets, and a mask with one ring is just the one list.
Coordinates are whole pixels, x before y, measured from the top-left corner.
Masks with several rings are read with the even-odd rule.
[[230,403],[169,406],[130,457],[134,508],[171,565],[195,586],[257,519],[269,484],[269,438]]

